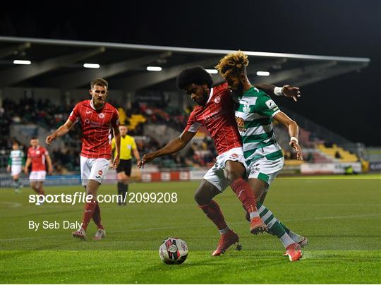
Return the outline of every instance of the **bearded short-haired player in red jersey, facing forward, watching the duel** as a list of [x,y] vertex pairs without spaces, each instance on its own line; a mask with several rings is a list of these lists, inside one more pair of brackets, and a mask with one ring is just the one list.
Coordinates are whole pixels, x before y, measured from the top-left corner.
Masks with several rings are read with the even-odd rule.
[[92,80],[89,90],[91,100],[84,100],[75,105],[66,123],[47,137],[47,145],[53,140],[70,131],[74,124],[80,121],[82,128],[82,151],[80,154],[80,172],[82,185],[90,196],[90,202],[85,204],[83,222],[73,236],[86,238],[86,229],[92,219],[97,225],[93,239],[99,240],[106,236],[101,223],[100,208],[97,202],[97,191],[109,169],[111,159],[111,128],[115,138],[115,156],[112,169],[119,165],[121,135],[119,133],[119,112],[106,102],[109,94],[108,83],[102,78]]

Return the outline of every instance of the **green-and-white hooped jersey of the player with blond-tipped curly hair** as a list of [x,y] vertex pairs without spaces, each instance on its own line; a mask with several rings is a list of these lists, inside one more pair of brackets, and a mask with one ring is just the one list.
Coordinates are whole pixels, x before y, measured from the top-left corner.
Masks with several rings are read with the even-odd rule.
[[246,164],[266,157],[276,160],[283,157],[282,149],[272,130],[272,118],[279,113],[279,107],[261,90],[251,87],[238,97],[236,108],[238,131],[243,142]]

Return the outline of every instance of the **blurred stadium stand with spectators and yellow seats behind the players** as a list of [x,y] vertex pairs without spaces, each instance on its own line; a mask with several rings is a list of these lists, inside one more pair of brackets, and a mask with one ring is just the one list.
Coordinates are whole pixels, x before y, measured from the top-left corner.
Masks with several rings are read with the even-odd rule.
[[[127,109],[115,102],[111,102],[111,104],[118,108],[121,123],[128,126],[128,132],[135,137],[138,150],[142,154],[157,150],[169,140],[175,138],[176,135],[179,135],[186,126],[188,114],[191,111],[191,107],[183,110],[167,106],[167,104],[162,104],[161,107],[151,107],[146,103],[137,101],[133,102],[131,107]],[[1,137],[0,150],[2,169],[6,166],[11,141],[14,139],[10,132],[12,126],[22,126],[23,124],[31,126],[30,122],[33,122],[40,130],[44,130],[44,133],[50,133],[66,121],[74,105],[73,100],[68,104],[58,104],[57,102],[51,102],[49,99],[34,99],[27,96],[21,98],[19,102],[10,98],[3,99],[3,107],[0,109],[0,128],[1,133],[4,134]],[[295,116],[295,114],[293,115]],[[301,117],[298,119],[301,119]],[[315,126],[311,122],[302,123],[302,125]],[[328,140],[323,140],[317,135],[318,132],[316,131],[317,128],[312,130],[300,128],[299,142],[303,147],[303,159],[305,162],[327,164],[361,161],[363,168],[366,168],[365,160],[359,160],[356,154]],[[163,136],[162,133],[166,135]],[[298,169],[302,162],[296,160],[295,153],[289,146],[288,132],[283,126],[279,126],[274,122],[274,133],[284,152],[286,166],[290,169]],[[26,134],[24,136],[25,138],[30,137],[30,135]],[[54,170],[59,174],[79,171],[79,128],[73,128],[68,135],[63,137],[62,141],[59,147],[53,148],[51,151]],[[22,143],[24,150],[26,150],[28,139]],[[155,160],[154,164],[158,169],[207,168],[214,164],[216,155],[214,143],[209,133],[205,128],[201,127],[191,144],[183,151],[173,156],[160,157]]]

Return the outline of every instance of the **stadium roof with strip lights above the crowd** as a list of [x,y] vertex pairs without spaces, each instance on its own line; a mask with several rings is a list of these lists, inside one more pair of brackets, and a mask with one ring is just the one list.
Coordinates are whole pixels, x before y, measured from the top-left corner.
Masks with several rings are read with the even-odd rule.
[[[183,68],[201,65],[213,68],[223,49],[194,49],[142,44],[48,40],[26,37],[0,37],[1,87],[54,87],[71,90],[87,87],[93,78],[109,80],[112,89],[174,90],[174,79]],[[248,75],[258,82],[258,71],[270,75],[261,82],[296,86],[308,85],[337,75],[360,71],[370,59],[309,54],[282,54],[244,51],[249,56]],[[14,60],[28,60],[30,65],[16,65]],[[99,68],[84,68],[83,63],[97,63]],[[162,71],[147,71],[160,66]],[[214,82],[221,80],[212,74]]]

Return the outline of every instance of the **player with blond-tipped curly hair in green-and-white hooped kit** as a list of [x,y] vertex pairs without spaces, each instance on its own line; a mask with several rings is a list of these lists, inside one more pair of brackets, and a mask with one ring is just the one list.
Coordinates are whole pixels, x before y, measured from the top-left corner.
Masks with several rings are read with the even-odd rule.
[[[236,121],[243,142],[243,155],[248,166],[248,183],[254,190],[260,217],[265,222],[267,231],[277,236],[286,248],[285,255],[289,250],[295,250],[299,253],[298,257],[291,258],[289,255],[289,259],[298,260],[302,256],[301,246],[307,245],[307,239],[287,229],[263,205],[271,182],[284,165],[282,149],[272,130],[272,120],[278,121],[288,129],[291,137],[289,144],[296,150],[297,159],[303,160],[301,147],[298,145],[298,125],[280,111],[277,104],[265,92],[250,84],[246,66],[248,66],[248,56],[242,51],[237,51],[224,56],[216,68],[238,97]],[[274,93],[279,93],[279,90],[274,90]]]

